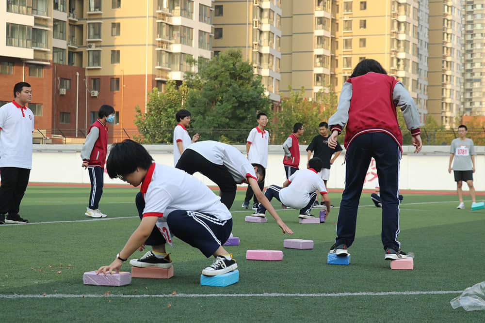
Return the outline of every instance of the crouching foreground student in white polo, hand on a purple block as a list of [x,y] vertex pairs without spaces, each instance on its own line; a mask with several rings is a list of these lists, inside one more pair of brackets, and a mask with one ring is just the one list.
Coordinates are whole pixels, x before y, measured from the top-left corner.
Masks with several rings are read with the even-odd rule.
[[168,268],[172,261],[165,245],[173,245],[174,235],[207,258],[214,256],[203,275],[237,269],[232,254],[222,246],[232,231],[231,214],[209,187],[183,170],[154,163],[141,144],[129,139],[113,144],[106,165],[111,178],[118,177],[135,187],[142,185],[135,200],[141,222],[114,261],[100,267],[98,273],[119,270],[123,261],[145,245],[152,246],[152,251],[130,264]]

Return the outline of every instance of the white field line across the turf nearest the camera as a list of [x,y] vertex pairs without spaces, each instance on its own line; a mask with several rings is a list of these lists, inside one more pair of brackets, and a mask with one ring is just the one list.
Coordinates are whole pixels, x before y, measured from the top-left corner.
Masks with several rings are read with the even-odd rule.
[[345,296],[389,296],[389,295],[436,295],[461,294],[463,291],[407,291],[407,292],[338,292],[338,293],[242,293],[242,294],[0,294],[1,298],[139,298],[139,297],[345,297]]

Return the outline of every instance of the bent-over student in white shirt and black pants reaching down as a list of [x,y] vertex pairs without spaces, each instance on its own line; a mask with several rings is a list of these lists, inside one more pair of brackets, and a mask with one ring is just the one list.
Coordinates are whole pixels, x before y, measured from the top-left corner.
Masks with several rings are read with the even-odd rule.
[[227,209],[234,202],[237,184],[249,184],[254,195],[275,218],[283,233],[293,233],[259,188],[258,182],[264,181],[264,167],[251,164],[235,147],[213,140],[194,142],[183,152],[176,168],[191,175],[198,171],[217,184],[221,190],[221,202]]

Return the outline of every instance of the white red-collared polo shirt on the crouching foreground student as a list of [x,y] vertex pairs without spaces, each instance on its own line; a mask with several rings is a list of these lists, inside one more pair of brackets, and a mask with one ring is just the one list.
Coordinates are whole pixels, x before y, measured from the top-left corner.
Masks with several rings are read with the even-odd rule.
[[207,185],[181,169],[152,163],[140,191],[145,199],[143,216],[164,217],[187,210],[208,213],[221,221],[231,218],[226,205]]

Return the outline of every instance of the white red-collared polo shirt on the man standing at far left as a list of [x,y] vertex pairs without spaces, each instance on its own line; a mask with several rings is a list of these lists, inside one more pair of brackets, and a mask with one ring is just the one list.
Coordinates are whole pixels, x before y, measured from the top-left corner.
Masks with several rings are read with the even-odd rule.
[[33,113],[15,101],[0,107],[0,167],[32,169]]

